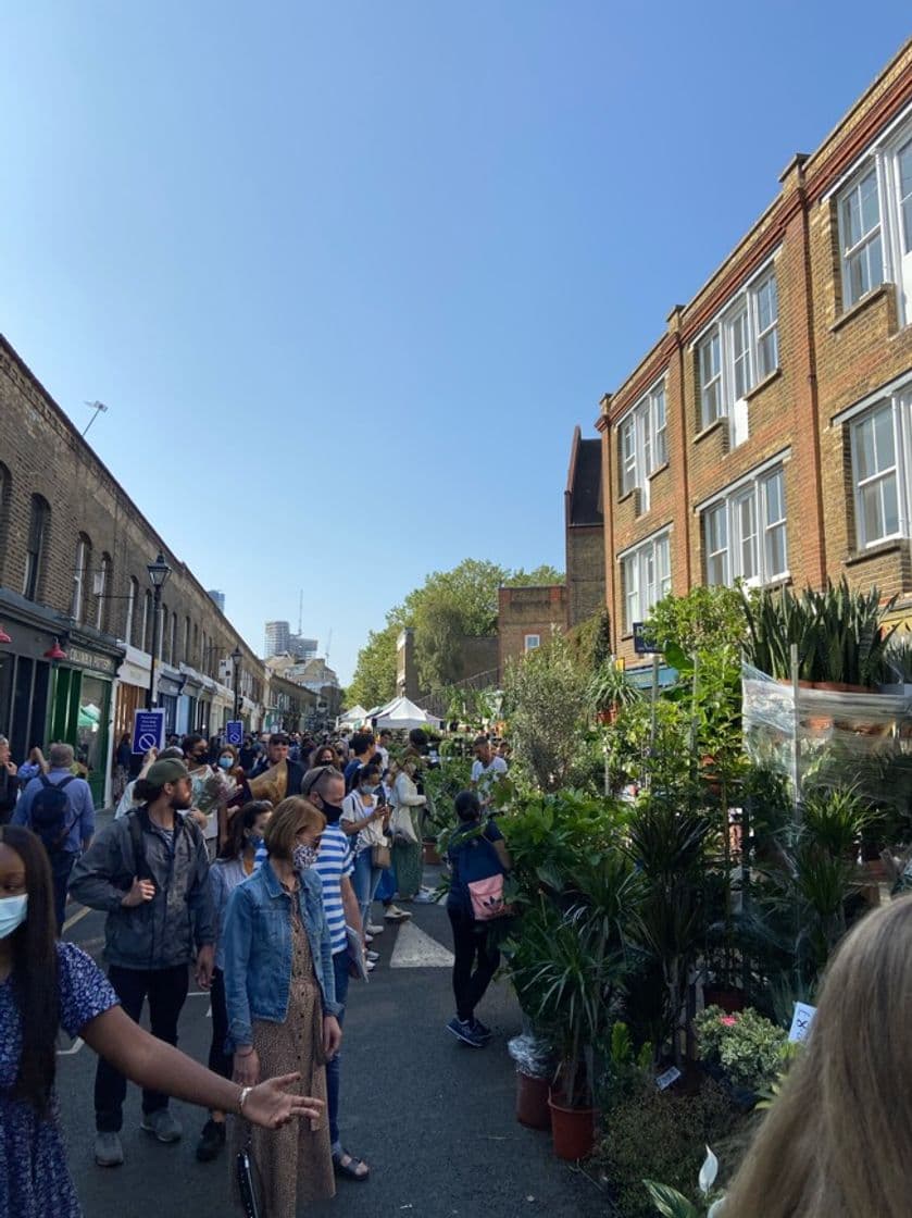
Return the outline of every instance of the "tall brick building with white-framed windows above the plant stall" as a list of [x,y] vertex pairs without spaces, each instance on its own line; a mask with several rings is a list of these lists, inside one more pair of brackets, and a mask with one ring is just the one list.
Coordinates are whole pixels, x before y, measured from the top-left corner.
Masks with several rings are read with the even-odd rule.
[[912,603],[912,40],[602,401],[619,653],[668,591]]

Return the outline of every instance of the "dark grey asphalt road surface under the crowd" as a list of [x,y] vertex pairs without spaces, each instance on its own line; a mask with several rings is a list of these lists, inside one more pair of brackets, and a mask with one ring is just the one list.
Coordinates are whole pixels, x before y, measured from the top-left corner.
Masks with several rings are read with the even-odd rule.
[[[507,1041],[519,1030],[520,1016],[511,990],[492,985],[479,1011],[496,1033],[487,1049],[457,1041],[444,1030],[453,1013],[446,911],[412,907],[416,929],[388,926],[376,938],[381,961],[369,984],[352,983],[346,1015],[342,1138],[370,1163],[371,1179],[340,1180],[336,1199],[307,1213],[604,1218],[606,1201],[595,1186],[554,1158],[548,1134],[525,1129],[515,1119],[515,1075]],[[100,961],[102,915],[73,905],[67,914],[66,937]],[[194,989],[191,984],[191,994]],[[180,1023],[180,1047],[201,1061],[208,1054],[207,1012],[208,998],[194,995]],[[235,1213],[226,1156],[214,1163],[196,1162],[205,1113],[191,1105],[174,1102],[184,1138],[164,1146],[139,1128],[140,1094],[130,1085],[122,1134],[127,1162],[113,1169],[95,1166],[95,1061],[86,1046],[61,1052],[57,1075],[69,1166],[85,1218]]]

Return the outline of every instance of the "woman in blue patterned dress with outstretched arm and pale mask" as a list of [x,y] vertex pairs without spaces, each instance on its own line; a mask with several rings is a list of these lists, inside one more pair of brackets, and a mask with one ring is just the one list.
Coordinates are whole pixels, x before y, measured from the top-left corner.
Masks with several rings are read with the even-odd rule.
[[[321,1118],[298,1075],[253,1090],[211,1073],[121,1009],[108,979],[74,943],[58,943],[54,882],[40,839],[0,826],[0,1214],[80,1218],[55,1090],[57,1029],[82,1037],[134,1083],[275,1129]],[[285,1130],[287,1132],[287,1129]]]

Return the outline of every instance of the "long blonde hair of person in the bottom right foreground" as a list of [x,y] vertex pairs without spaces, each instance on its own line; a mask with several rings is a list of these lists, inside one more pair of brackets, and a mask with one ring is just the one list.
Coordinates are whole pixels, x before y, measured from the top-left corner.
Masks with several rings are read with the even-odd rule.
[[912,1212],[912,896],[865,917],[827,971],[811,1037],[722,1218]]

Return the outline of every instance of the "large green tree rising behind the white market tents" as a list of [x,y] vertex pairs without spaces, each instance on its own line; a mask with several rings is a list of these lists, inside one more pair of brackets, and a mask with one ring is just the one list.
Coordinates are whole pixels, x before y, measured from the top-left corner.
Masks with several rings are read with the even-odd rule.
[[451,571],[432,571],[420,588],[386,615],[386,626],[371,631],[358,653],[347,691],[349,705],[374,706],[396,692],[396,639],[403,626],[415,631],[415,663],[423,689],[453,685],[460,671],[461,641],[497,633],[498,588],[560,583],[561,571],[549,565],[531,571],[466,558]]

